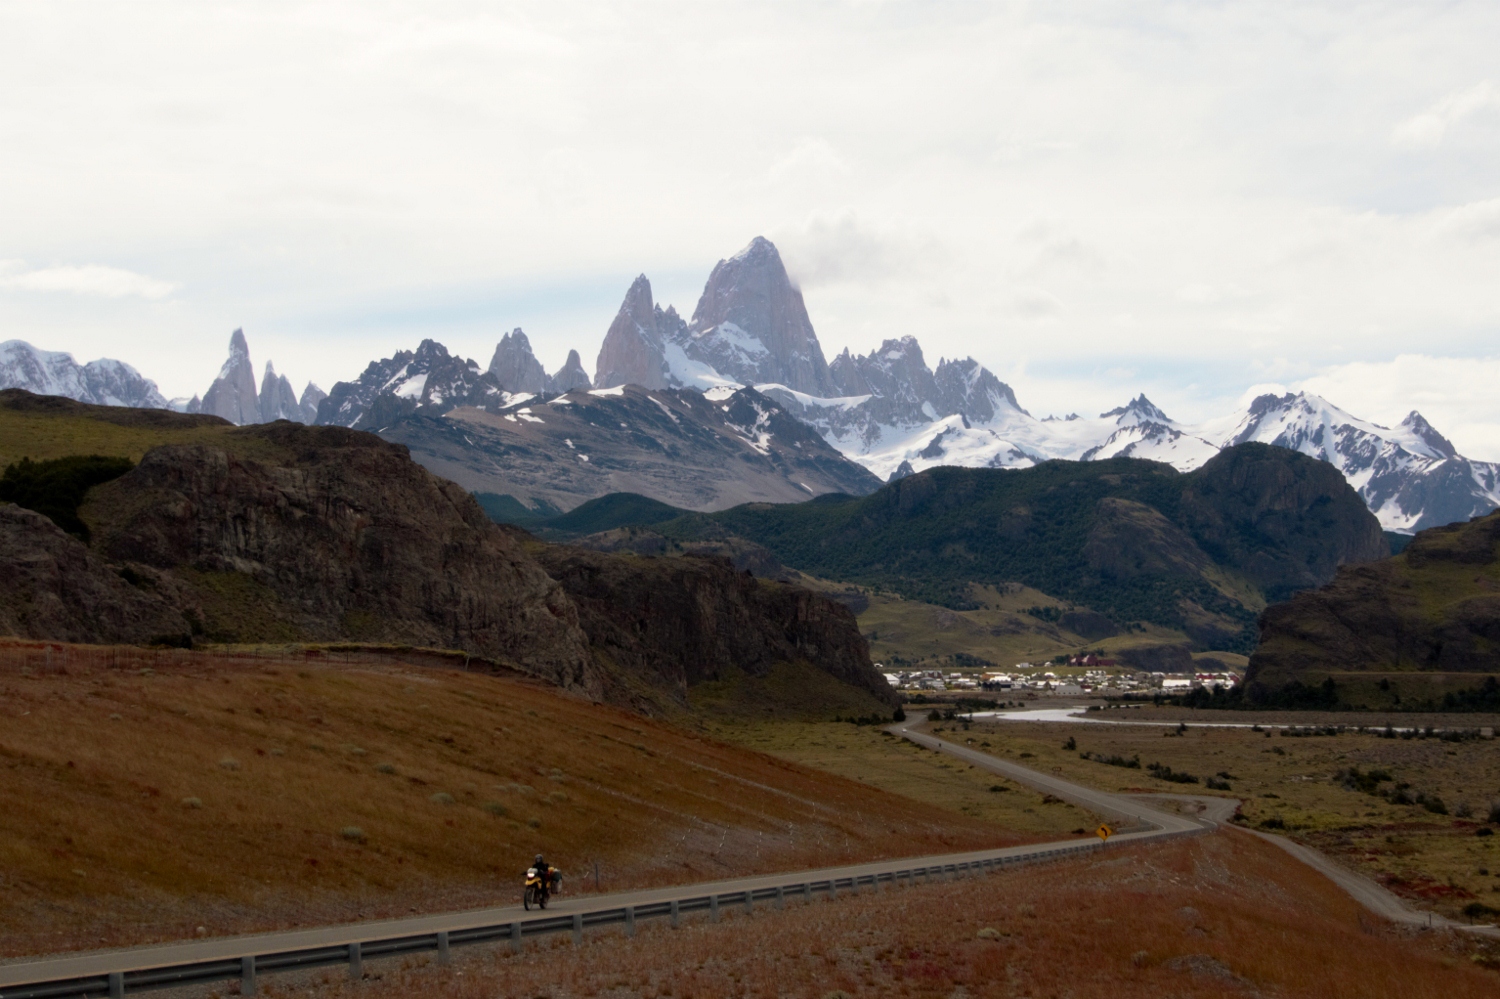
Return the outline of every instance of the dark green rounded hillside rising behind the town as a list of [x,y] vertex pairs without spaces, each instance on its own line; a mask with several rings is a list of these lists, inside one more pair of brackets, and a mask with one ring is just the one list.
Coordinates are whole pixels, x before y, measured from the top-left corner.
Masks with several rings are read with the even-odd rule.
[[933,468],[862,498],[747,504],[638,526],[674,542],[747,538],[806,573],[954,610],[976,609],[974,584],[1018,582],[1118,626],[1152,624],[1239,651],[1254,646],[1268,603],[1389,552],[1336,470],[1263,444],[1230,448],[1191,474],[1128,458]]

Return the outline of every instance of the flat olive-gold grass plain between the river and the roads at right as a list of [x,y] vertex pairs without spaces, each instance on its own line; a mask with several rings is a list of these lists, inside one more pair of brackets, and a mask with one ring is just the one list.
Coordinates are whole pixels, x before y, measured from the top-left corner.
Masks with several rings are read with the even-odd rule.
[[[1106,716],[1152,717],[1150,708],[1112,710]],[[1218,712],[1215,722],[1236,722]],[[1340,723],[1358,722],[1341,716]],[[1454,717],[1449,717],[1454,724]],[[1479,902],[1500,909],[1500,826],[1496,836],[1474,832],[1488,826],[1492,802],[1500,802],[1500,741],[1443,742],[1388,740],[1344,732],[1293,738],[1270,729],[1214,729],[1150,726],[1000,722],[975,723],[968,730],[938,723],[950,736],[990,746],[996,754],[1058,771],[1060,776],[1106,790],[1222,794],[1244,800],[1246,824],[1281,822],[1286,831],[1341,862],[1386,884],[1418,908],[1460,916]],[[1072,738],[1076,750],[1064,748]],[[1142,770],[1080,759],[1080,753],[1138,756]],[[1158,780],[1144,770],[1160,762],[1198,777],[1197,784]],[[1436,795],[1449,814],[1424,806],[1346,789],[1340,772],[1384,770],[1410,792]],[[1227,772],[1232,790],[1209,790],[1202,782]],[[1458,814],[1461,810],[1470,814]]]

